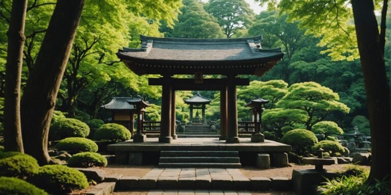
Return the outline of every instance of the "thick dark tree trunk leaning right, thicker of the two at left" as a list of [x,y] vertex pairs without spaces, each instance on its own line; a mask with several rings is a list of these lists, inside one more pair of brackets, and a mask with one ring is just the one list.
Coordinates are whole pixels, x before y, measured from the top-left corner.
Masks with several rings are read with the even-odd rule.
[[25,152],[50,163],[49,125],[85,0],[58,0],[21,102]]

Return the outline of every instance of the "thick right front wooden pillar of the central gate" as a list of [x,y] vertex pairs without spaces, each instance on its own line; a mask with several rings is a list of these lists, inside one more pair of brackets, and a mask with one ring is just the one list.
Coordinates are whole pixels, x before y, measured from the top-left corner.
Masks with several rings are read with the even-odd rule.
[[227,119],[228,135],[227,143],[239,143],[238,137],[238,108],[236,102],[236,85],[234,83],[235,75],[228,75],[227,82]]

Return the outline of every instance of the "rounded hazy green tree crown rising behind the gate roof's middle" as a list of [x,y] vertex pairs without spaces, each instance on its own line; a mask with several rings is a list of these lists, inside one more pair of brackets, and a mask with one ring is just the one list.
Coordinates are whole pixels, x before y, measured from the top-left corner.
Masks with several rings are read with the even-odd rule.
[[175,22],[171,32],[165,33],[166,37],[199,39],[224,37],[216,18],[204,10],[202,3],[196,0],[185,0],[183,4],[178,22]]

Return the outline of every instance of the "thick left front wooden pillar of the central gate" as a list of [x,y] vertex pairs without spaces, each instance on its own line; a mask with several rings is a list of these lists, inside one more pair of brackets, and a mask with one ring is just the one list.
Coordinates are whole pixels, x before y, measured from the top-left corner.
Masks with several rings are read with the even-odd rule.
[[171,143],[171,76],[163,75],[161,95],[160,143]]

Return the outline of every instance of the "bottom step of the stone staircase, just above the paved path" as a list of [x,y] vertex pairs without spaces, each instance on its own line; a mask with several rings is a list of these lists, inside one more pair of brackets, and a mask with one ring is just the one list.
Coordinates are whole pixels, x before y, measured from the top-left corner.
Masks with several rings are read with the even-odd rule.
[[240,163],[159,163],[161,168],[241,168]]

